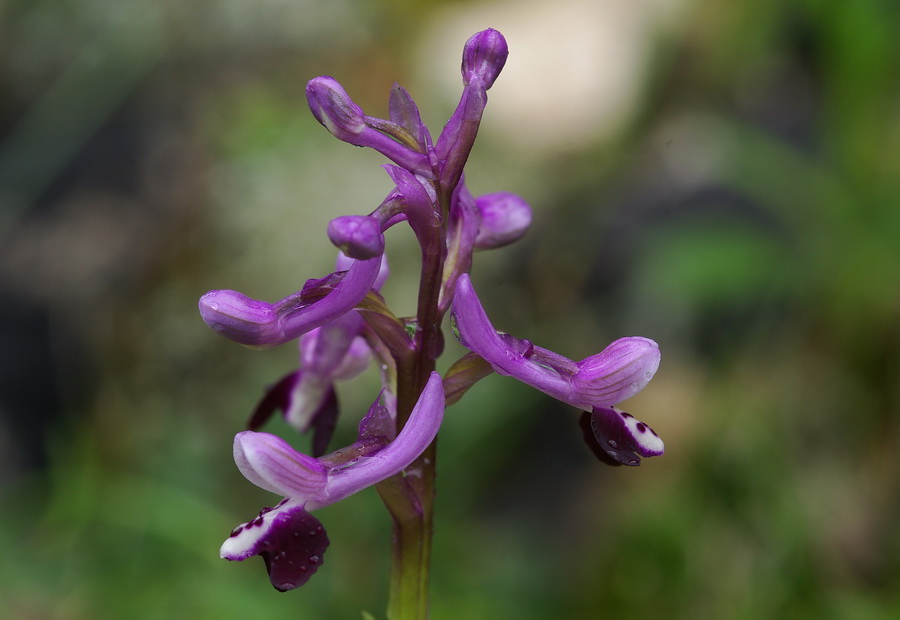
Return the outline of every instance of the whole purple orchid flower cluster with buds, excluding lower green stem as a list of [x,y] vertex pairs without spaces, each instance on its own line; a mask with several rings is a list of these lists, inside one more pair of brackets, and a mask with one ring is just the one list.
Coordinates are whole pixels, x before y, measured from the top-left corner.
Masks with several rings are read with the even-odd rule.
[[[384,169],[394,188],[368,215],[346,215],[328,225],[339,250],[334,273],[308,280],[274,303],[231,290],[200,299],[206,324],[235,342],[267,348],[299,341],[299,367],[269,388],[250,430],[234,440],[241,473],[284,499],[235,528],[221,549],[229,560],[262,556],[279,590],[304,584],[322,564],[328,538],[311,511],[372,485],[381,491],[391,480],[399,481],[394,489],[400,492],[382,498],[395,521],[403,502],[413,514],[430,510],[426,495],[433,488],[421,480],[433,470],[433,458],[425,455],[433,450],[444,408],[492,372],[584,410],[585,437],[605,462],[637,465],[640,456],[662,454],[659,437],[614,406],[656,372],[656,343],[623,338],[576,362],[497,331],[472,286],[474,252],[516,241],[532,218],[528,204],[514,194],[473,196],[463,175],[487,91],[507,56],[496,30],[466,42],[462,96],[437,141],[398,85],[382,119],[366,115],[335,79],[311,80],[306,94],[316,119],[336,138],[390,160]],[[416,315],[398,318],[378,291],[388,277],[384,233],[404,222],[421,247],[422,274]],[[471,353],[441,377],[434,369],[448,312]],[[327,453],[339,409],[335,382],[359,374],[372,358],[383,389],[362,417],[357,440]],[[310,455],[256,430],[277,411],[297,431],[312,431]]]

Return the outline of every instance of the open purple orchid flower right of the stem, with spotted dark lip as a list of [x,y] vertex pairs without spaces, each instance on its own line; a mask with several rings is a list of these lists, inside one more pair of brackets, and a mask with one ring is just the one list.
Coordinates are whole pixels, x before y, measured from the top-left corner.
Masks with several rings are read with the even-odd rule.
[[[649,338],[620,338],[596,355],[576,362],[498,332],[491,325],[468,274],[459,277],[453,316],[460,342],[497,373],[515,377],[579,409],[604,461],[640,464],[640,456],[663,453],[663,442],[649,426],[613,405],[640,392],[659,368],[659,346]],[[585,422],[582,422],[584,426]]]

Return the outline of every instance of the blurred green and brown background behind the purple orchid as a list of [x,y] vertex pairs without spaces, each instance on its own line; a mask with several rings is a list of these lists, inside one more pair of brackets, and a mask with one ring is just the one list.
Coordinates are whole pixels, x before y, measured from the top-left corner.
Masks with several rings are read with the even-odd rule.
[[[277,500],[231,438],[296,350],[217,338],[196,299],[330,272],[327,221],[389,190],[308,79],[376,116],[399,81],[437,133],[488,26],[511,53],[468,181],[535,226],[476,286],[575,359],[656,339],[625,408],[667,454],[607,468],[571,408],[481,382],[441,432],[432,616],[900,617],[891,0],[0,1],[0,616],[383,618],[374,490],[318,514],[301,590],[218,558]],[[338,441],[376,381],[342,385]]]

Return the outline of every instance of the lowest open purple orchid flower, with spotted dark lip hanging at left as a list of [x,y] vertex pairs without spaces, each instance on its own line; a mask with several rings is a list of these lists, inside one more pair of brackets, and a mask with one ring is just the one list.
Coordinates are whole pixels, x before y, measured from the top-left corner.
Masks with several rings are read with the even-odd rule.
[[234,461],[241,473],[284,499],[236,527],[220,555],[237,561],[260,555],[277,590],[300,587],[322,565],[328,547],[325,530],[310,511],[406,469],[434,440],[443,414],[441,377],[433,372],[406,425],[393,440],[390,412],[377,401],[360,423],[359,439],[353,445],[318,459],[297,452],[269,433],[238,433]]

